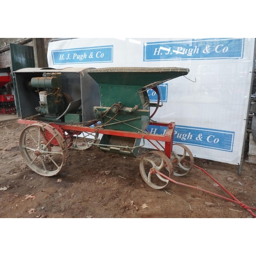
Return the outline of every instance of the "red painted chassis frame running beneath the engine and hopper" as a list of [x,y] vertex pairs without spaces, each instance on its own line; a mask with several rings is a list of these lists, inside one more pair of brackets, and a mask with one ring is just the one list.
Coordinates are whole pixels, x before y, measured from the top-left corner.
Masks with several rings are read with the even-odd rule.
[[[39,120],[27,120],[27,119],[18,119],[18,123],[20,124],[33,124],[42,122]],[[150,122],[151,125],[157,125],[157,126],[164,126],[167,127],[167,131],[165,135],[158,135],[158,134],[143,134],[143,133],[135,133],[135,132],[126,132],[126,131],[117,131],[117,130],[108,130],[108,129],[98,129],[97,127],[89,127],[89,126],[81,126],[81,125],[72,125],[72,124],[58,124],[53,122],[45,122],[48,124],[52,124],[53,127],[60,127],[64,131],[75,131],[75,132],[87,132],[87,133],[95,133],[98,134],[105,134],[105,135],[114,135],[114,136],[120,136],[120,137],[128,137],[128,138],[137,138],[137,139],[146,139],[150,143],[152,143],[157,150],[159,148],[151,141],[155,140],[159,143],[159,141],[162,141],[165,143],[165,146],[163,147],[160,143],[160,146],[164,150],[164,154],[170,158],[170,155],[173,151],[173,142],[174,142],[174,129],[175,129],[175,122],[170,123],[163,123],[163,122]],[[159,150],[160,151],[160,150]]]

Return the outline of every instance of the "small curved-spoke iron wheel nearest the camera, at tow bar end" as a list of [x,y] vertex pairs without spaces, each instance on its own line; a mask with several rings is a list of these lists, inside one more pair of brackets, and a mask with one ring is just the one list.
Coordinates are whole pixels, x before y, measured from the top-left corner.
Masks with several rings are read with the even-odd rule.
[[143,155],[140,160],[140,174],[146,184],[155,189],[164,188],[169,180],[155,173],[154,170],[170,177],[173,174],[173,166],[167,156],[160,151],[151,151]]

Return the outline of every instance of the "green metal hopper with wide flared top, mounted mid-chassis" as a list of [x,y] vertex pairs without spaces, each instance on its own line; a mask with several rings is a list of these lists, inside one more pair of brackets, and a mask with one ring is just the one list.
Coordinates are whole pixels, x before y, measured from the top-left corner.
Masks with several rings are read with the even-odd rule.
[[[144,132],[150,122],[150,99],[147,90],[164,81],[187,75],[188,72],[189,69],[185,68],[89,70],[87,73],[99,85],[100,106],[94,107],[95,117],[105,129]],[[103,144],[108,144],[109,139],[103,136]],[[138,145],[139,142],[135,141],[134,144]]]

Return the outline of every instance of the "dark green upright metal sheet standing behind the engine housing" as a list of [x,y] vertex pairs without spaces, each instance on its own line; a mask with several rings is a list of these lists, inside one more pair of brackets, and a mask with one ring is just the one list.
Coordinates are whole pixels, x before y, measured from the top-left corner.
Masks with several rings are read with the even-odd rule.
[[[19,69],[35,67],[33,46],[10,44],[10,52],[11,52],[11,60],[12,60],[12,72]],[[17,116],[20,117],[19,100],[18,100],[16,79],[15,79],[14,73],[13,73],[13,87],[14,87]]]

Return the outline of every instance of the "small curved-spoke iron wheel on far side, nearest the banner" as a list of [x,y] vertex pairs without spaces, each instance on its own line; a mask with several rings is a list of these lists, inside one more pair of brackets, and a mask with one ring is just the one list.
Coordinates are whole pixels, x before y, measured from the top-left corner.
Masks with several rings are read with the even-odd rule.
[[174,144],[174,146],[182,147],[182,154],[178,155],[175,151],[172,152],[170,161],[174,166],[175,176],[184,176],[190,172],[194,166],[194,157],[191,151],[182,144]]

